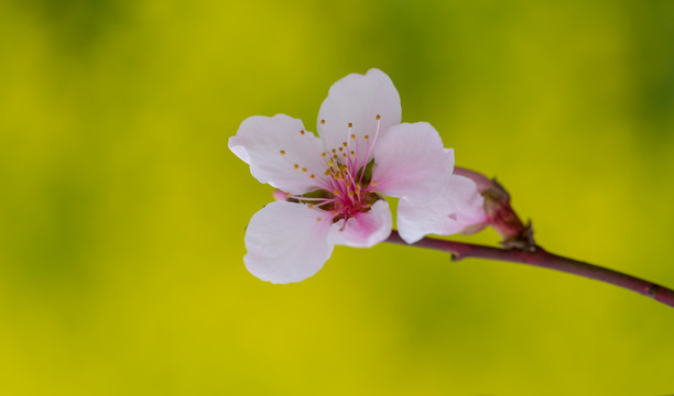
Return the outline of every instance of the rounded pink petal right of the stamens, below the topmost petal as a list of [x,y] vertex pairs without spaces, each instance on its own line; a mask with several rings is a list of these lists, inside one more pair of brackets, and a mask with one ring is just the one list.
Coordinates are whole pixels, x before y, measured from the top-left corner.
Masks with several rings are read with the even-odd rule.
[[443,147],[426,122],[395,125],[374,145],[372,180],[387,196],[428,200],[445,188],[453,169],[454,151]]

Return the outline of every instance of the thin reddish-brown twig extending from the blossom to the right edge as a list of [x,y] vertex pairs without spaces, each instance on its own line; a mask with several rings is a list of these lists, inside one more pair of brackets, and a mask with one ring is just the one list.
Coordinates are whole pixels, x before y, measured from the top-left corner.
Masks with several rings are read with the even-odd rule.
[[[391,232],[387,242],[404,244],[396,231]],[[638,277],[623,274],[613,270],[600,267],[598,265],[579,262],[576,260],[562,257],[546,252],[540,246],[533,252],[521,250],[506,250],[491,246],[477,245],[455,241],[446,241],[435,238],[424,238],[411,244],[412,246],[434,249],[452,253],[454,261],[467,257],[498,260],[520,264],[529,264],[550,270],[556,270],[569,274],[584,276],[586,278],[601,280],[618,287],[639,293],[643,296],[653,298],[656,301],[674,307],[674,290],[644,280]]]

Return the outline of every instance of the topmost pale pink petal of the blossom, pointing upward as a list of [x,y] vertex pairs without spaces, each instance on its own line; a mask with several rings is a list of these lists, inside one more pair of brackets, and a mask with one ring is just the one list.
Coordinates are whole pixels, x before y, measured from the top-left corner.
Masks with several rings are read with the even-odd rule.
[[[317,130],[326,135],[330,148],[349,142],[350,150],[356,151],[356,142],[349,140],[348,124],[351,123],[351,133],[358,139],[357,156],[361,163],[367,163],[363,136],[369,135],[370,142],[374,139],[377,116],[381,117],[379,134],[382,135],[390,127],[400,123],[401,114],[400,96],[389,76],[379,69],[370,69],[366,75],[350,74],[330,87],[318,111]],[[322,120],[325,124],[320,123]]]

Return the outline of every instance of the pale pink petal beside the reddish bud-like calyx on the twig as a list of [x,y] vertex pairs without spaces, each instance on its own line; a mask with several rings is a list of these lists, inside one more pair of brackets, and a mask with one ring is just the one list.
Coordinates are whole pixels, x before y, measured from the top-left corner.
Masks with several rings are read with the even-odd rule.
[[453,175],[444,194],[430,202],[403,198],[398,204],[398,232],[407,243],[434,233],[449,235],[487,220],[485,199],[471,179]]

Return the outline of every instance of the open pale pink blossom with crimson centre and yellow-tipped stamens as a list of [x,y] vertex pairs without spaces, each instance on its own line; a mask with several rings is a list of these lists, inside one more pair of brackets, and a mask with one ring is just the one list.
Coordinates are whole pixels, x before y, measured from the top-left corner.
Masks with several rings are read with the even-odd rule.
[[[317,130],[318,136],[284,114],[251,117],[229,139],[253,177],[287,197],[248,224],[243,261],[260,279],[300,282],[323,267],[335,245],[384,241],[392,218],[383,196],[401,198],[398,224],[407,242],[438,230],[458,232],[483,213],[475,184],[452,175],[454,152],[435,129],[401,123],[400,97],[381,70],[335,82]],[[428,215],[442,216],[443,227]]]

